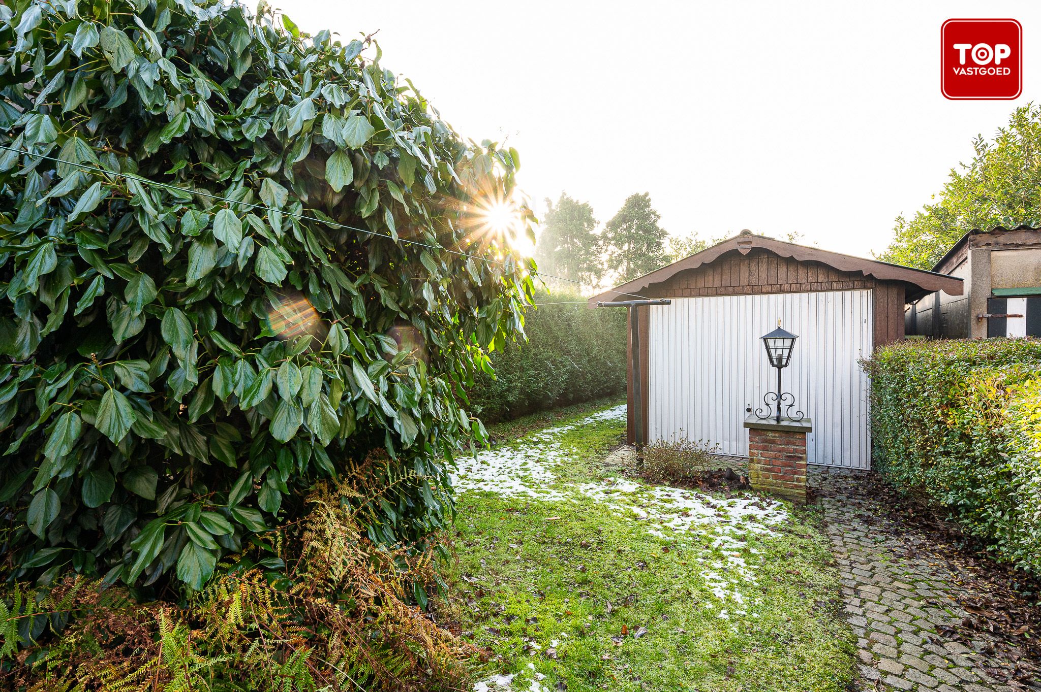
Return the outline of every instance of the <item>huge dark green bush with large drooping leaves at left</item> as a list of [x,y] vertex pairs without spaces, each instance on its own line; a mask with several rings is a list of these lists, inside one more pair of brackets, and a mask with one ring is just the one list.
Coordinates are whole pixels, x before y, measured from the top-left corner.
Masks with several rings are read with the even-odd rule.
[[445,526],[464,388],[532,296],[474,222],[516,152],[265,3],[22,0],[0,45],[11,579],[200,589],[371,458],[371,539]]

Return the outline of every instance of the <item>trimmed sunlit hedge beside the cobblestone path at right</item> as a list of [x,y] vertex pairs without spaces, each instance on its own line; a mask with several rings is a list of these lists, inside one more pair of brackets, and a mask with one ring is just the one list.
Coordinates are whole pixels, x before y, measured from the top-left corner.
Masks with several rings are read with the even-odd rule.
[[875,468],[1041,575],[1041,341],[908,342],[866,365]]

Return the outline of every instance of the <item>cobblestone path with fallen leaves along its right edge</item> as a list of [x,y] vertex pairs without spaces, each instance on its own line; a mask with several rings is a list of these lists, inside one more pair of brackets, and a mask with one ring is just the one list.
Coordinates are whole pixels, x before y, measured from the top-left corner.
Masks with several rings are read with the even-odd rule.
[[[1041,689],[1001,682],[1008,663],[988,656],[985,635],[965,645],[938,634],[967,613],[959,605],[968,592],[955,567],[931,560],[935,547],[882,517],[879,503],[858,490],[860,475],[815,468],[817,488],[832,551],[845,596],[846,620],[857,634],[864,690],[984,692]],[[1010,686],[1011,685],[1011,686]]]

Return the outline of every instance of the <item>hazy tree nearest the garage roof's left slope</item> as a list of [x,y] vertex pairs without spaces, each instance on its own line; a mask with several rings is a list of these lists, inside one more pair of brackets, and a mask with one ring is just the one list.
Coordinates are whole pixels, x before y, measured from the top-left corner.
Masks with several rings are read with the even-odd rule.
[[659,218],[651,206],[651,195],[643,192],[629,195],[607,222],[602,240],[607,248],[607,266],[617,273],[617,281],[627,282],[667,262],[668,234],[658,225]]

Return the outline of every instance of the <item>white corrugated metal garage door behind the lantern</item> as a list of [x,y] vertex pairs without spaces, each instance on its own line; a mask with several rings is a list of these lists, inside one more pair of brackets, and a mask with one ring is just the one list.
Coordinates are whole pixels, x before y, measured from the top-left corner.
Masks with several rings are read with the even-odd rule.
[[871,291],[827,291],[674,298],[651,308],[651,441],[704,440],[747,456],[746,408],[777,387],[760,337],[781,318],[798,335],[782,388],[813,419],[810,463],[870,465],[868,377],[858,361],[871,351]]

